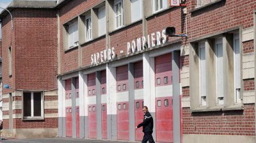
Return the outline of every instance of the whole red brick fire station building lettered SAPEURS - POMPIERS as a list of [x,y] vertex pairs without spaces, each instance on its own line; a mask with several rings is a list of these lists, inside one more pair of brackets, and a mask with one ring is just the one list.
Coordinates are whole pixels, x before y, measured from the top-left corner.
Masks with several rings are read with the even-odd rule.
[[[35,38],[40,34],[44,42],[53,40],[44,55],[53,63],[42,65],[56,76],[44,84],[36,81],[31,85],[35,89],[30,85],[20,88],[19,80],[13,81],[19,88],[3,89],[5,135],[13,129],[14,137],[27,136],[29,129],[45,123],[52,127],[40,126],[42,131],[34,137],[51,129],[51,135],[59,137],[141,141],[142,129],[135,130],[135,125],[142,122],[146,105],[154,118],[156,142],[255,142],[256,2],[183,2],[183,6],[170,7],[167,0],[64,0],[39,9],[9,7],[14,14],[15,45],[5,45],[10,29],[3,31],[3,84],[13,77],[29,77],[19,75],[25,69],[8,75],[8,52],[15,47],[11,50],[19,54],[24,50],[22,44],[32,51],[40,49],[33,46],[40,40],[31,45],[18,40],[31,34],[22,34],[26,31],[22,24],[38,18],[49,21],[42,27],[31,25],[35,28],[31,32],[40,29],[32,33]],[[41,12],[41,16],[28,16],[28,10]],[[27,13],[19,17],[19,12]],[[168,37],[167,27],[188,37]],[[47,47],[40,42],[42,49]],[[24,68],[18,66],[24,60],[20,57],[13,59],[17,70]],[[36,77],[45,73],[31,72]],[[10,93],[20,105],[9,100]],[[19,110],[10,109],[9,101]],[[31,111],[24,109],[35,102],[42,104],[44,114],[38,116],[36,106]],[[22,126],[16,120],[34,126]]]

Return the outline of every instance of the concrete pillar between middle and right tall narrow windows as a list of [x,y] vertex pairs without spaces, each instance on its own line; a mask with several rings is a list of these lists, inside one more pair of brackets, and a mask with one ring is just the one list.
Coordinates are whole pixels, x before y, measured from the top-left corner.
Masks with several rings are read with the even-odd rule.
[[223,37],[224,107],[234,105],[233,34]]

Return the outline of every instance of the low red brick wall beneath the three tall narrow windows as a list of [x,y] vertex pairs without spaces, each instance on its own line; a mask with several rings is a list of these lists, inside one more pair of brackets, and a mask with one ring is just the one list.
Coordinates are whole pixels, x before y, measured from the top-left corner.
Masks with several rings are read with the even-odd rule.
[[238,111],[182,112],[183,134],[255,136],[254,104]]

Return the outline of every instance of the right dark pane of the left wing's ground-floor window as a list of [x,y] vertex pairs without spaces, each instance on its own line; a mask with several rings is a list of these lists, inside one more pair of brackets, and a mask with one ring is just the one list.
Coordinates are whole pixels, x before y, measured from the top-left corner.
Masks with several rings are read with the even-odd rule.
[[34,116],[42,116],[41,93],[34,92]]

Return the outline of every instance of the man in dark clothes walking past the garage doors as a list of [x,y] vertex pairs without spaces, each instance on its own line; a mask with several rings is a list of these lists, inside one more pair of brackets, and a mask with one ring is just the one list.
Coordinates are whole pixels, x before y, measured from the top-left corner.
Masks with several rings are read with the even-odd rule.
[[155,143],[153,137],[152,137],[152,133],[153,133],[153,127],[154,127],[154,121],[153,118],[150,114],[150,112],[148,112],[148,108],[147,106],[143,106],[143,110],[144,112],[144,119],[143,122],[141,124],[138,124],[137,127],[135,127],[136,129],[139,127],[143,126],[143,132],[144,132],[144,136],[143,136],[143,140],[142,143],[146,143],[147,141],[150,143]]

